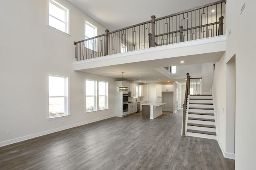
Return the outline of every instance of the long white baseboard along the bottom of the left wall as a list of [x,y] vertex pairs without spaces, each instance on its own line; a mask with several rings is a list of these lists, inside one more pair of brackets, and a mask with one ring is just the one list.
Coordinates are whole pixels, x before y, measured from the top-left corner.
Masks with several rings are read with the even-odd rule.
[[90,121],[84,121],[84,122],[81,122],[81,123],[76,123],[76,124],[68,125],[68,126],[65,126],[65,127],[59,127],[59,128],[51,129],[51,130],[48,130],[48,131],[43,131],[43,132],[40,132],[40,133],[35,133],[35,134],[27,135],[27,136],[24,136],[24,137],[18,137],[18,138],[11,139],[11,140],[8,140],[8,141],[3,141],[3,142],[0,142],[0,147],[6,146],[6,145],[10,145],[10,144],[13,144],[13,143],[17,143],[17,142],[21,142],[21,141],[25,141],[25,140],[32,139],[32,138],[35,138],[35,137],[40,137],[40,136],[43,136],[43,135],[48,135],[50,133],[55,133],[55,132],[58,132],[58,131],[63,131],[63,130],[70,129],[70,128],[73,128],[73,127],[77,127],[77,126],[81,126],[81,125],[86,125],[88,123],[92,123],[92,122],[108,119],[108,118],[111,118],[111,117],[115,117],[115,115],[101,117],[101,118],[93,119],[93,120],[90,120]]

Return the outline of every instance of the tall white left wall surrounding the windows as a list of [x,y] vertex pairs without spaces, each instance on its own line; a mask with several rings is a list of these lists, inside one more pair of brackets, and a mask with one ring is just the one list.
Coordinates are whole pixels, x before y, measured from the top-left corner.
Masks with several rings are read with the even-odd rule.
[[[46,26],[47,0],[11,0],[0,5],[0,146],[114,116],[113,78],[73,71],[74,41],[84,38],[84,19],[70,8],[70,36]],[[70,117],[48,121],[47,72],[70,75]],[[109,82],[109,109],[84,113],[84,79]],[[63,121],[63,124],[62,124]],[[11,131],[7,136],[6,131]]]

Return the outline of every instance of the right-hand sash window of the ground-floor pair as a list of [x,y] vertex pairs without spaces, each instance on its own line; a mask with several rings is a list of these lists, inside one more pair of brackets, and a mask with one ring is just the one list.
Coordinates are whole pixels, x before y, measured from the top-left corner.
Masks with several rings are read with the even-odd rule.
[[99,81],[99,110],[107,109],[108,106],[108,82]]

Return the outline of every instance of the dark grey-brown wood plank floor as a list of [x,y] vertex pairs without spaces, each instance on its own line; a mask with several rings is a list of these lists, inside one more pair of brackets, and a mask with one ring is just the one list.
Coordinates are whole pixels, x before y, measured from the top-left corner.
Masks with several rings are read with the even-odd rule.
[[0,148],[0,169],[233,170],[217,141],[182,137],[182,112],[113,117]]

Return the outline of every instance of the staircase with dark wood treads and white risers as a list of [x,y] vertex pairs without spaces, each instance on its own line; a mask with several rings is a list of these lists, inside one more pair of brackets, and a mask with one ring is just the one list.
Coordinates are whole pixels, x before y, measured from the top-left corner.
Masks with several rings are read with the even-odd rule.
[[187,135],[216,139],[212,95],[190,95]]

